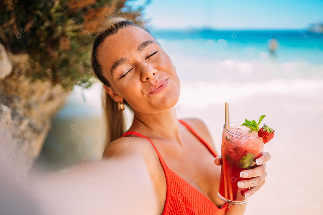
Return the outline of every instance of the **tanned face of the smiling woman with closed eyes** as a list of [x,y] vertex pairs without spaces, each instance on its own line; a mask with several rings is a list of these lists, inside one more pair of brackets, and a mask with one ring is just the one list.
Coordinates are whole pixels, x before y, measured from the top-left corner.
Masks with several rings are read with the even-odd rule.
[[100,44],[98,62],[116,101],[124,98],[135,112],[156,113],[172,108],[180,82],[169,56],[147,31],[129,26]]

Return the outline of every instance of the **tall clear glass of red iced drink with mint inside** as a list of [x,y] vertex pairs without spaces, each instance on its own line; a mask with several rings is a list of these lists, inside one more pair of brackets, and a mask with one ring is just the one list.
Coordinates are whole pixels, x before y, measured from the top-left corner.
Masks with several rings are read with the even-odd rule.
[[245,180],[240,172],[256,167],[255,159],[259,158],[263,148],[263,138],[257,132],[248,132],[242,123],[230,122],[229,131],[223,126],[222,165],[218,196],[232,205],[245,203],[244,192],[249,188],[238,188],[238,181]]

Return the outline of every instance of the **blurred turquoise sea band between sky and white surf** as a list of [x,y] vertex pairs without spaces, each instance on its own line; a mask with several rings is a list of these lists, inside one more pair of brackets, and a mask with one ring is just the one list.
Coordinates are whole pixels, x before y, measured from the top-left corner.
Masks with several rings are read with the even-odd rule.
[[[259,60],[260,53],[280,63],[305,61],[318,65],[323,63],[323,34],[306,30],[263,31],[176,31],[151,30],[156,39],[172,44],[170,52],[205,57],[209,60]],[[278,48],[275,57],[269,54],[268,40],[276,38]],[[167,46],[168,47],[168,46]],[[260,55],[260,60],[266,59]]]

